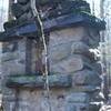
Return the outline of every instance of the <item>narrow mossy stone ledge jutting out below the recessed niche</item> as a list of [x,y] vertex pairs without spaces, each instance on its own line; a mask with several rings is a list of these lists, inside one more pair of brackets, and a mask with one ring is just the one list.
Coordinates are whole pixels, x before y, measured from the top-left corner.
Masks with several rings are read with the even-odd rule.
[[[9,88],[42,88],[44,80],[42,75],[10,75],[7,80],[7,87]],[[70,88],[72,85],[72,79],[70,75],[54,74],[49,75],[50,88]]]

